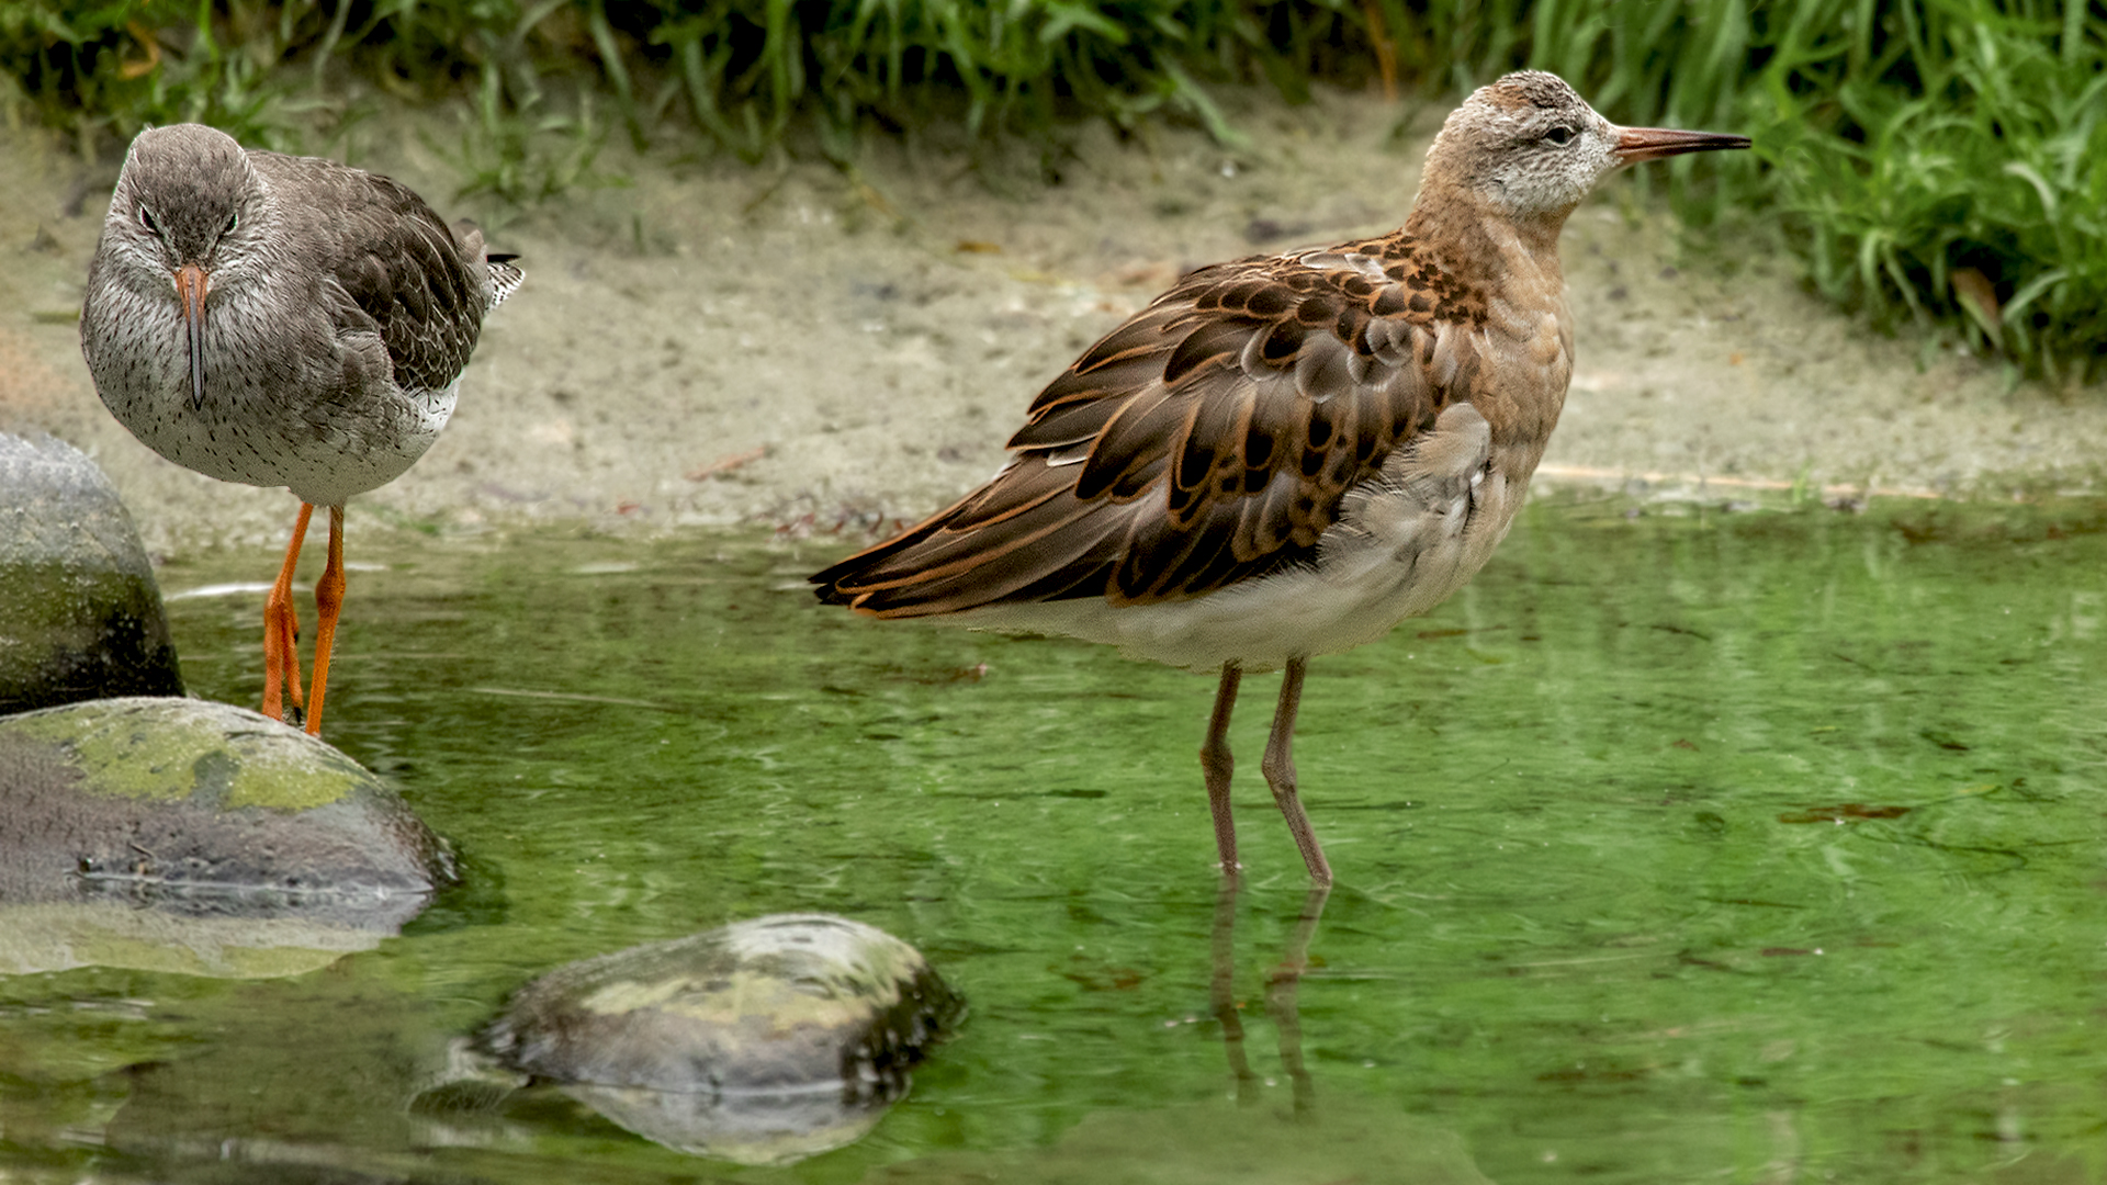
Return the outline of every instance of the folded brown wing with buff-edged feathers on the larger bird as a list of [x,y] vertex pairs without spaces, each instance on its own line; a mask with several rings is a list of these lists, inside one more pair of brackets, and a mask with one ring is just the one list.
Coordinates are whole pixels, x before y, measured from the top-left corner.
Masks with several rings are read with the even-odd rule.
[[1039,392],[1003,472],[815,574],[820,599],[1140,605],[1308,563],[1346,491],[1469,390],[1458,291],[1401,232],[1193,272]]

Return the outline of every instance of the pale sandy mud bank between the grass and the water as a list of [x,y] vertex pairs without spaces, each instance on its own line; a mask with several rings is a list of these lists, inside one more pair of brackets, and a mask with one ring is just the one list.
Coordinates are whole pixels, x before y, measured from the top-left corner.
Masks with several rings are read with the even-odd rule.
[[[992,472],[1039,386],[1182,270],[1397,226],[1441,114],[1327,93],[1243,103],[1241,150],[1178,129],[1085,129],[1051,156],[879,141],[855,175],[611,145],[598,167],[626,183],[527,213],[451,200],[442,137],[367,122],[341,156],[483,217],[529,280],[447,434],[354,519],[864,538]],[[114,177],[0,129],[0,428],[88,451],[160,555],[278,546],[284,491],[162,462],[88,384],[74,318]],[[1563,257],[1580,361],[1538,489],[2101,487],[2107,399],[1879,337],[1787,257],[1690,247],[1627,181],[1574,215]]]

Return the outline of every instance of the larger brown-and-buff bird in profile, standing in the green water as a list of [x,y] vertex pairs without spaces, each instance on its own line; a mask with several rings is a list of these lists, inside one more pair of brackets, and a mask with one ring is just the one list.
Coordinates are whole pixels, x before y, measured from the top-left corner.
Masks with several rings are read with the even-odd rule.
[[1285,668],[1260,768],[1325,883],[1304,664],[1433,609],[1507,536],[1572,377],[1566,215],[1624,164],[1726,148],[1749,139],[1622,129],[1509,74],[1450,114],[1403,230],[1188,274],[1039,392],[992,481],[818,595],[1220,671],[1199,757],[1230,873],[1228,713],[1245,671]]

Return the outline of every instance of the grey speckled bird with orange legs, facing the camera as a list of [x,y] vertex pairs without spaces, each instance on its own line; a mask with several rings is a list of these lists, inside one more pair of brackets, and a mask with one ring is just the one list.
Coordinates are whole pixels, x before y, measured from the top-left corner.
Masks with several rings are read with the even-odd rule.
[[308,519],[329,506],[314,734],[343,605],[343,504],[432,447],[483,314],[518,285],[510,255],[483,253],[483,232],[449,228],[388,177],[244,152],[202,124],[133,139],[88,264],[80,350],[150,449],[299,498],[263,603],[263,715],[284,719],[284,687],[295,715],[303,704],[293,569]]

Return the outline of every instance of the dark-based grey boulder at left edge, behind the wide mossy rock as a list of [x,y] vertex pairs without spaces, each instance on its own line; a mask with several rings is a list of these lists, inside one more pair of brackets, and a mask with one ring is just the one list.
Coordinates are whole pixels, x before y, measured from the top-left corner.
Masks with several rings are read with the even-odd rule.
[[181,696],[154,567],[95,462],[0,432],[0,715]]

